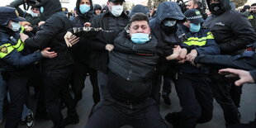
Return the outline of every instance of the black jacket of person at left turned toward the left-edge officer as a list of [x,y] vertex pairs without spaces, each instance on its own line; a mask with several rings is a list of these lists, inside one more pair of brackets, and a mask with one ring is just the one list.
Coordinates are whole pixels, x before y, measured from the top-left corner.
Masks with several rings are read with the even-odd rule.
[[36,36],[25,40],[26,46],[37,50],[50,47],[51,51],[57,52],[58,56],[54,59],[42,60],[43,70],[62,69],[73,64],[64,41],[64,35],[71,28],[71,22],[64,12],[61,12],[59,0],[41,0],[39,4],[45,8],[45,24],[36,32]]

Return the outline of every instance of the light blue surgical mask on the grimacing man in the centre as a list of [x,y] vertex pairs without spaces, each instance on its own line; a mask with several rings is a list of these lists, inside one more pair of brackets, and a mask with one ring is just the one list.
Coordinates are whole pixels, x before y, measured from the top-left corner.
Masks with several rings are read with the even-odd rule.
[[132,40],[132,42],[135,44],[145,44],[147,41],[149,41],[149,34],[134,33],[131,34],[130,40]]

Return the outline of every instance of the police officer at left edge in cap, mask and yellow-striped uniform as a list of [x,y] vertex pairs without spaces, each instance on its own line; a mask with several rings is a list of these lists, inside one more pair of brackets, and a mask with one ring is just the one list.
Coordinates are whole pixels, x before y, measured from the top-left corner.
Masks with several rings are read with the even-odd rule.
[[6,128],[17,128],[21,120],[23,105],[26,103],[26,84],[32,77],[31,65],[43,57],[54,58],[57,54],[50,48],[30,54],[19,38],[24,31],[15,8],[0,7],[0,67],[7,82],[11,104],[7,111]]

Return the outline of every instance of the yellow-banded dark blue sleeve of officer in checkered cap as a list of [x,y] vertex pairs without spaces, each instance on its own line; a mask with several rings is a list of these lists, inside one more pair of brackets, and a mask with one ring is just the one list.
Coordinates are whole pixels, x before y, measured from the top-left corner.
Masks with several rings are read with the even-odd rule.
[[211,31],[207,32],[206,45],[196,48],[198,55],[219,55],[220,48],[214,40]]

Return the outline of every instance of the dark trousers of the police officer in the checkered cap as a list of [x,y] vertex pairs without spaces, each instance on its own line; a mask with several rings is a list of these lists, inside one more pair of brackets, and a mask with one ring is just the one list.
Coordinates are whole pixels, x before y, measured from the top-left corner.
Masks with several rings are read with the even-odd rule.
[[183,108],[178,112],[181,128],[194,128],[197,123],[211,121],[213,93],[207,74],[178,73],[175,88]]

